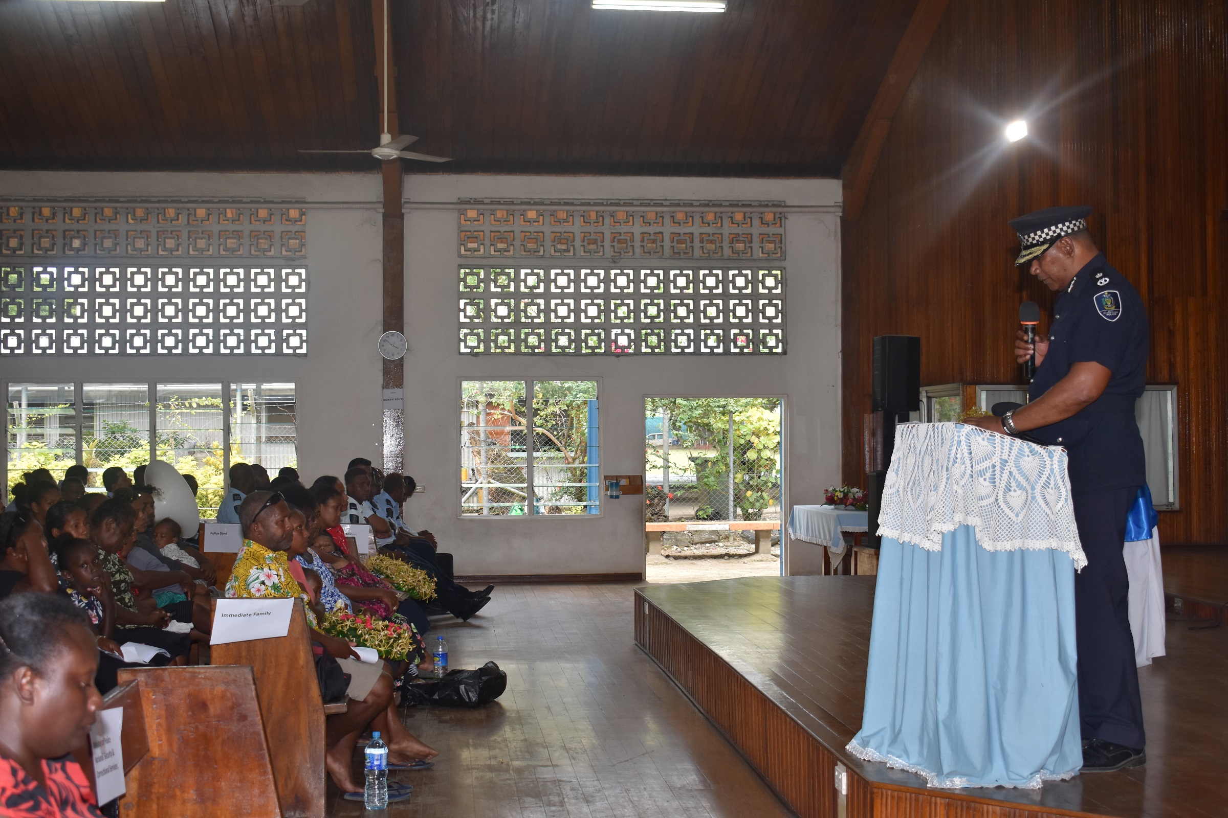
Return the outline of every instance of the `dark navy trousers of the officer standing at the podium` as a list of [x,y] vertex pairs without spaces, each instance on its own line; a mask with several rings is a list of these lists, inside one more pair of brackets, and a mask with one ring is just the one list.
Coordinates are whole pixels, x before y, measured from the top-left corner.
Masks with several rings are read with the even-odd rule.
[[1076,493],[1074,522],[1087,567],[1074,575],[1078,709],[1083,738],[1142,748],[1130,579],[1121,554],[1138,487]]

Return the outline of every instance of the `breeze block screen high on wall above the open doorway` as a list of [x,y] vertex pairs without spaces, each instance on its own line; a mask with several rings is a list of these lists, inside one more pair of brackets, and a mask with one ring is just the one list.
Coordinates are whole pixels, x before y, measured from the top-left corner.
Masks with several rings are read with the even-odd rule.
[[460,211],[460,352],[783,354],[785,215]]

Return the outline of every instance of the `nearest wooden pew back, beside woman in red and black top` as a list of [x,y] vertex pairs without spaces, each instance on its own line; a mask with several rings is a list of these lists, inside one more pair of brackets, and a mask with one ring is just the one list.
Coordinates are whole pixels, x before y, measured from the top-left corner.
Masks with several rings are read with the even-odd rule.
[[[124,818],[282,816],[251,668],[122,668],[112,708],[124,709]],[[92,784],[88,747],[74,757]]]

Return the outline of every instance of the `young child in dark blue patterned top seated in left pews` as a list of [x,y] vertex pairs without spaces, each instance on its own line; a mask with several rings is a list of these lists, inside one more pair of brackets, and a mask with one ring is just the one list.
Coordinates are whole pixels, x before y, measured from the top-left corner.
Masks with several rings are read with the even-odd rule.
[[107,571],[102,569],[102,556],[97,546],[88,540],[63,537],[56,541],[55,562],[60,569],[64,596],[90,617],[98,650],[103,651],[98,656],[98,672],[93,677],[99,693],[107,693],[118,684],[117,671],[120,667],[158,667],[171,662],[171,657],[162,654],[146,665],[123,660],[119,644],[114,641],[115,600],[111,596]]

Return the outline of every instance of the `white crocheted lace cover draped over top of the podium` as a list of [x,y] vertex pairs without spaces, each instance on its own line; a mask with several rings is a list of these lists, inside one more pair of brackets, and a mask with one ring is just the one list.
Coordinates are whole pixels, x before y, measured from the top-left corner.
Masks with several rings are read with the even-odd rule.
[[986,551],[1052,548],[1087,565],[1074,526],[1067,454],[963,423],[896,427],[878,533],[926,551],[974,526]]

